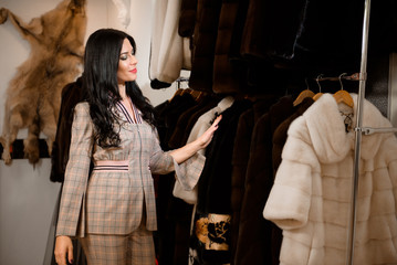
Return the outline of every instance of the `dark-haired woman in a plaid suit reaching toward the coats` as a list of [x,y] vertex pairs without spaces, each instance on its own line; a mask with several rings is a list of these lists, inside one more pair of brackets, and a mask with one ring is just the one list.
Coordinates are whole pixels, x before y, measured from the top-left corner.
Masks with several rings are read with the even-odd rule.
[[[87,102],[75,107],[70,159],[56,227],[55,259],[73,263],[77,237],[88,264],[155,264],[156,230],[152,173],[199,174],[198,150],[212,139],[220,118],[196,141],[163,152],[154,108],[135,80],[135,41],[102,29],[87,40],[83,89]],[[90,162],[94,169],[90,174]]]

